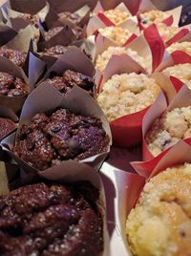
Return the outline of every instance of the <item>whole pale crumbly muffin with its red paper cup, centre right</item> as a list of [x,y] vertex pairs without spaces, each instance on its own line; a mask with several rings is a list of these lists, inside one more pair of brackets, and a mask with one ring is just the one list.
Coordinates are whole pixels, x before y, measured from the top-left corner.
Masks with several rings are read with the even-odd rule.
[[[111,125],[114,143],[116,143],[120,147],[135,146],[135,145],[138,145],[138,143],[140,143],[141,141],[142,118],[144,117],[149,107],[153,104],[153,102],[159,95],[159,92],[163,91],[168,97],[168,100],[171,100],[173,96],[175,96],[176,91],[173,85],[169,82],[168,78],[165,77],[164,75],[162,75],[161,77],[157,74],[156,75],[140,74],[140,70],[138,69],[138,67],[137,69],[133,70],[133,67],[135,67],[133,65],[133,62],[131,62],[129,58],[127,58],[125,55],[114,56],[113,58],[115,58],[115,61],[113,62],[115,63],[115,66],[114,64],[110,65],[110,69],[107,70],[107,74],[105,74],[105,77],[103,76],[101,86],[99,87],[99,94],[97,96],[97,101],[100,104],[100,106],[103,107],[103,110],[107,117],[109,114],[112,115],[110,118],[110,125]],[[110,79],[111,77],[112,79]],[[123,78],[124,78],[124,82],[122,82]],[[112,80],[114,82],[113,90],[112,90]],[[112,102],[112,100],[115,100],[115,98],[117,97],[117,94],[121,94],[121,95],[125,94],[125,91],[124,92],[122,91],[122,93],[120,93],[119,89],[117,89],[118,88],[116,86],[117,83],[120,82],[120,87],[123,88],[124,90],[125,88],[124,86],[127,86],[125,85],[126,84],[125,81],[130,82],[134,80],[135,81],[137,80],[137,83],[132,82],[132,84],[137,84],[139,89],[141,88],[141,86],[143,86],[142,89],[144,88],[143,91],[142,89],[140,89],[140,91],[138,91],[139,93],[137,91],[134,91],[134,90],[137,90],[136,87],[134,89],[133,88],[131,89],[132,92],[137,92],[136,96],[139,97],[138,104],[135,104],[135,106],[134,104],[132,104],[132,102],[134,102],[136,99],[134,99],[135,96],[133,96],[133,93],[130,91],[128,93],[128,96],[126,95],[124,97],[125,100],[127,100],[126,98],[128,98],[129,102],[132,104],[132,107],[129,107],[128,109],[129,115],[122,114],[120,117],[114,117],[114,114],[116,112],[117,112],[117,115],[119,111],[121,113],[122,111],[123,113],[125,113],[122,103],[119,104],[120,108],[119,107],[117,108],[117,106],[115,108],[115,105],[113,105],[112,106],[113,108],[111,107],[111,109],[107,108],[107,105],[110,103],[110,101]],[[138,80],[140,81],[139,83],[138,83]],[[165,84],[168,84],[169,86],[165,86]],[[146,89],[146,87],[148,88]],[[104,88],[104,91],[103,91],[103,88]],[[107,101],[107,104],[106,103],[104,104],[103,103],[104,98],[107,98],[107,92],[109,92],[109,89],[112,90],[111,93],[113,92],[113,95],[111,96],[108,94],[110,100],[108,99],[109,101]],[[145,105],[144,107],[141,107],[141,108],[140,106],[142,101],[140,100],[140,97],[145,98],[144,99]],[[147,102],[147,105],[145,102]],[[135,110],[133,110],[133,106],[135,107]],[[126,108],[127,107],[125,107],[125,109]],[[112,111],[112,109],[114,111]],[[126,110],[126,113],[127,113],[127,110]]]

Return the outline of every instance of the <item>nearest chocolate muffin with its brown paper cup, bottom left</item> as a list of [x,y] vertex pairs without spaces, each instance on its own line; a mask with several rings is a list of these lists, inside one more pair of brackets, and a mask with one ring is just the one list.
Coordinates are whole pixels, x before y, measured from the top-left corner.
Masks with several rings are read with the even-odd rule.
[[[2,173],[2,170],[1,170],[1,173]],[[33,213],[35,212],[35,216],[39,216],[39,217],[44,216],[45,218],[43,222],[44,224],[43,230],[46,230],[48,227],[52,227],[52,228],[48,228],[49,232],[43,233],[43,234],[41,233],[42,237],[44,238],[46,237],[46,240],[48,241],[47,246],[44,246],[44,243],[42,243],[42,240],[39,241],[40,244],[38,245],[41,245],[41,251],[46,250],[46,253],[50,253],[50,255],[54,253],[55,250],[56,250],[56,253],[60,251],[62,251],[63,253],[63,246],[61,245],[67,243],[68,241],[61,239],[60,242],[62,242],[62,244],[60,243],[60,245],[58,245],[59,243],[56,244],[54,239],[49,240],[50,235],[52,236],[52,238],[60,238],[61,234],[67,234],[66,237],[68,237],[68,239],[70,240],[71,231],[69,231],[68,233],[68,230],[73,230],[73,233],[72,233],[73,243],[69,243],[71,246],[69,245],[65,246],[65,250],[67,250],[66,251],[67,253],[78,255],[78,253],[81,253],[81,249],[84,248],[84,250],[87,252],[87,255],[88,255],[88,252],[93,253],[93,250],[94,250],[94,255],[97,255],[97,256],[110,255],[109,236],[107,231],[107,216],[106,216],[107,209],[106,209],[106,202],[105,202],[105,191],[104,191],[103,184],[99,176],[97,175],[96,171],[94,170],[94,168],[84,163],[70,162],[67,164],[67,170],[64,173],[62,171],[62,166],[60,165],[59,167],[57,166],[54,170],[50,169],[43,173],[40,173],[40,174],[38,173],[34,176],[26,175],[23,172],[20,179],[15,181],[13,184],[11,183],[10,189],[6,184],[6,182],[8,182],[6,181],[6,178],[4,179],[4,181],[1,180],[1,183],[2,183],[1,188],[4,188],[1,191],[4,194],[1,197],[1,200],[3,200],[3,198],[6,199],[8,194],[11,197],[13,193],[17,192],[17,202],[22,202],[22,197],[24,193],[25,197],[29,197],[29,198],[28,200],[25,200],[26,203],[24,203],[23,206],[28,207],[29,202],[33,202],[33,203],[35,202],[34,203],[35,206],[38,207],[37,211],[34,204],[32,204],[34,207],[32,206],[28,208],[28,210],[32,214],[32,219],[30,223],[34,221],[37,226],[39,224],[38,222],[36,222],[37,220],[35,221],[35,219],[33,219],[34,218]],[[30,193],[32,194],[30,195]],[[43,196],[44,199],[46,198],[45,201],[42,201],[42,195],[44,195]],[[50,195],[52,195],[52,197]],[[76,212],[76,207],[77,207],[76,195],[78,195],[79,201],[81,202],[78,204],[78,207],[81,210],[81,212],[78,212],[79,214],[78,218],[81,221],[75,223],[74,220],[77,217],[75,215],[77,213]],[[54,197],[54,203],[53,203],[53,197]],[[76,204],[75,204],[75,201],[76,201]],[[82,209],[82,207],[84,207],[84,209]],[[73,212],[74,214],[73,218],[71,218],[71,212]],[[47,218],[46,213],[49,213],[49,217],[51,217],[51,219]],[[17,215],[19,215],[18,212],[17,212]],[[9,216],[9,213],[7,217],[8,216]],[[24,219],[26,217],[25,213],[22,216],[23,216],[22,218]],[[2,218],[4,217],[2,216]],[[63,220],[64,220],[64,223],[62,223]],[[90,226],[91,220],[92,220],[92,223],[91,223],[92,225],[91,225],[91,229],[89,230],[88,227]],[[84,229],[84,223],[88,224],[88,225],[85,225],[87,228],[86,230]],[[60,224],[62,225],[63,228],[62,227],[60,228]],[[68,224],[69,225],[74,224],[74,226],[71,228],[65,228],[65,226]],[[29,226],[30,224],[28,224],[28,228]],[[6,226],[6,228],[9,228],[9,227]],[[100,229],[97,230],[98,228]],[[77,229],[77,234],[76,234],[76,229]],[[29,234],[29,236],[31,236],[31,234],[33,234],[32,236],[34,237],[38,236],[35,231],[32,228],[32,229],[29,229],[27,233]],[[87,231],[87,233],[85,231]],[[2,236],[2,239],[4,239],[5,241],[6,238],[7,237],[4,234],[4,236]],[[12,239],[12,236],[10,235],[10,241],[11,239]],[[57,239],[57,241],[58,240],[59,239]],[[31,239],[31,242],[32,242],[32,239]],[[81,248],[81,245],[82,245],[81,243],[83,242],[84,242],[84,245]],[[6,244],[7,245],[9,244],[8,240]],[[20,245],[16,245],[12,248],[14,249],[14,251],[16,249],[17,251],[20,252],[21,250],[23,251],[23,248],[25,247],[25,245],[26,243],[23,242],[22,248]],[[96,246],[96,248],[94,248],[94,246]],[[33,251],[33,247],[31,246],[29,247],[29,244],[27,245],[27,247],[28,247],[28,252]],[[8,248],[8,250],[9,249],[11,250],[11,247]],[[37,248],[35,248],[35,252],[36,252],[36,249]]]

